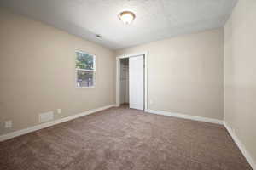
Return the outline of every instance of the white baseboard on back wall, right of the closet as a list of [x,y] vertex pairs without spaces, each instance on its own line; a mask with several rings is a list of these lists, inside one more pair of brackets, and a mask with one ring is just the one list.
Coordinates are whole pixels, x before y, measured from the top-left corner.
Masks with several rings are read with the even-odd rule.
[[207,117],[190,116],[190,115],[184,115],[184,114],[180,114],[180,113],[172,113],[172,112],[168,112],[168,111],[154,111],[154,110],[150,110],[150,109],[145,110],[145,111],[148,113],[153,113],[153,114],[157,114],[157,115],[173,116],[173,117],[178,117],[178,118],[183,118],[183,119],[190,119],[190,120],[194,120],[194,121],[212,122],[212,123],[223,125],[222,120],[212,119],[212,118],[207,118]]

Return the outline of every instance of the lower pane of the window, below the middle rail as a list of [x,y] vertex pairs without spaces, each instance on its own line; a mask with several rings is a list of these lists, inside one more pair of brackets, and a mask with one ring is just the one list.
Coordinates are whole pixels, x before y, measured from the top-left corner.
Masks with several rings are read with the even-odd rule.
[[94,85],[94,72],[77,71],[77,88],[91,87]]

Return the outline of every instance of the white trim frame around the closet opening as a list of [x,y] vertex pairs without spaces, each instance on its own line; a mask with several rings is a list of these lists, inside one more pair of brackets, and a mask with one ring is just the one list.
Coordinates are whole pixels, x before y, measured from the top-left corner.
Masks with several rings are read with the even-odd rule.
[[148,51],[137,54],[124,54],[116,57],[116,97],[115,106],[120,106],[120,59],[136,57],[138,55],[144,56],[144,111],[148,110]]

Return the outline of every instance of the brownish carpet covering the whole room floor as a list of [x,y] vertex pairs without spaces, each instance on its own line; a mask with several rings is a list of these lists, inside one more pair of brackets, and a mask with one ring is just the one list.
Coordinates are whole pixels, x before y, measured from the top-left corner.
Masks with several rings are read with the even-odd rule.
[[221,125],[127,107],[0,143],[1,170],[252,170]]

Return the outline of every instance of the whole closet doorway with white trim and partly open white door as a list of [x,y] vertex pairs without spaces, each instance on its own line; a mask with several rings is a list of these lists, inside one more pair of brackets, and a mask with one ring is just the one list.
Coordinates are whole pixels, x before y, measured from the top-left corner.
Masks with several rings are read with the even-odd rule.
[[116,106],[147,110],[148,53],[122,55],[116,59]]

